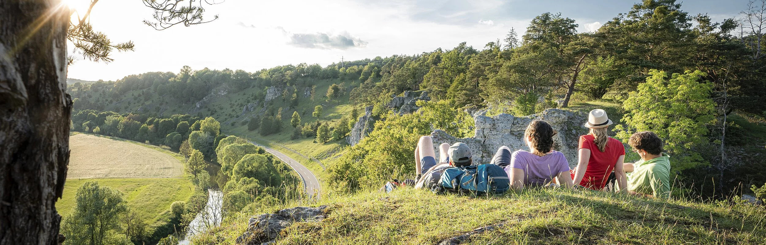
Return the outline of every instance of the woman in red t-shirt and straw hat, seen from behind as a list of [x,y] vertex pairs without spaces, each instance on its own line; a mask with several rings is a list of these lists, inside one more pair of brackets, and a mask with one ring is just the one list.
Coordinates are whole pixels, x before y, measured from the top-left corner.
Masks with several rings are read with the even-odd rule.
[[580,136],[578,146],[579,161],[572,179],[579,185],[592,190],[603,190],[607,184],[609,175],[614,171],[617,185],[620,190],[627,188],[627,179],[623,169],[625,161],[625,147],[617,139],[608,135],[612,120],[607,117],[603,109],[591,110],[588,115],[588,123],[585,126],[591,129],[587,135]]

